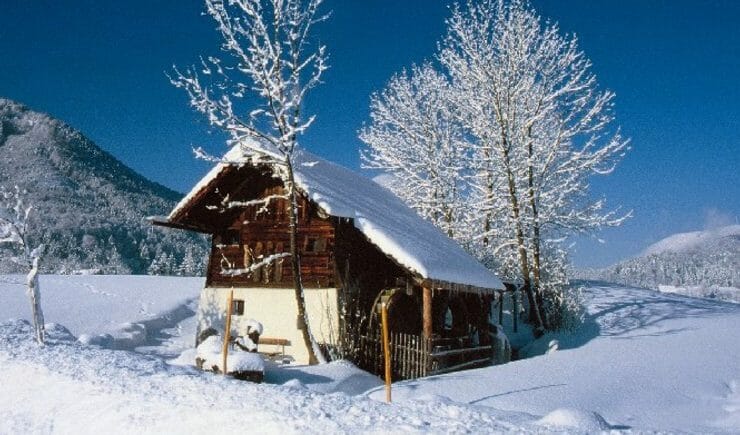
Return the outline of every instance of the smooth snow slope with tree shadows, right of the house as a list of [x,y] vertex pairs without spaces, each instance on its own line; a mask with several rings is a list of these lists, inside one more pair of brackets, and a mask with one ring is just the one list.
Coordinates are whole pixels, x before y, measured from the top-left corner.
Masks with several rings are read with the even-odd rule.
[[592,286],[586,297],[577,334],[542,339],[557,339],[559,351],[405,382],[396,397],[439,395],[534,415],[595,411],[642,430],[740,432],[740,307],[618,286]]

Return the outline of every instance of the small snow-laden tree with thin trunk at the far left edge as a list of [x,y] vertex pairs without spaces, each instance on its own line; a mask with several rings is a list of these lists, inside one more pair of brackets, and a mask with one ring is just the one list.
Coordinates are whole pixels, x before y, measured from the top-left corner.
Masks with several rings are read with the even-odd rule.
[[6,190],[0,187],[0,244],[14,245],[19,251],[11,260],[28,270],[26,288],[31,300],[31,314],[36,341],[44,344],[44,312],[41,310],[39,287],[39,262],[44,245],[32,247],[28,240],[28,218],[32,207],[23,202],[23,192],[18,187]]

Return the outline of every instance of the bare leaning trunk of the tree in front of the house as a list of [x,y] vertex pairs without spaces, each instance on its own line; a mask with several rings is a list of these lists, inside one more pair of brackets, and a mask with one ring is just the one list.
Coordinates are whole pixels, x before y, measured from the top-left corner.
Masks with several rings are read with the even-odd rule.
[[301,330],[303,341],[308,349],[308,363],[317,364],[326,362],[321,354],[316,340],[311,334],[311,328],[308,323],[308,314],[306,313],[306,299],[303,293],[303,282],[301,281],[301,258],[298,252],[298,195],[295,188],[295,178],[293,176],[293,163],[290,157],[285,159],[288,170],[287,190],[290,207],[288,207],[288,217],[290,220],[290,258],[293,268],[293,285],[295,288],[295,300],[298,306],[298,329]]

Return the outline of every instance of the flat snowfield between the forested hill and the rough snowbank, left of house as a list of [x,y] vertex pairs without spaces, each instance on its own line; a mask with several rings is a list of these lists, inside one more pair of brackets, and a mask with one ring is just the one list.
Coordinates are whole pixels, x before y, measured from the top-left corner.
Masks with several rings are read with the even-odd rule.
[[[194,344],[194,333],[180,331],[194,328],[203,280],[142,275],[42,275],[41,306],[47,322],[64,325],[83,341],[104,342],[117,349],[149,348],[175,356],[182,346]],[[30,320],[25,276],[0,275],[0,297],[0,321]]]

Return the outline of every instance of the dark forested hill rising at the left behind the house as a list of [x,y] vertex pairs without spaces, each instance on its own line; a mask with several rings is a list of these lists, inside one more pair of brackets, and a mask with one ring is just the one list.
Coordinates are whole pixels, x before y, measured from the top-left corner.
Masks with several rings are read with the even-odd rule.
[[[0,98],[0,185],[27,191],[31,239],[47,249],[46,272],[193,275],[202,236],[152,226],[181,194],[137,174],[80,132]],[[0,272],[15,272],[0,251]]]

